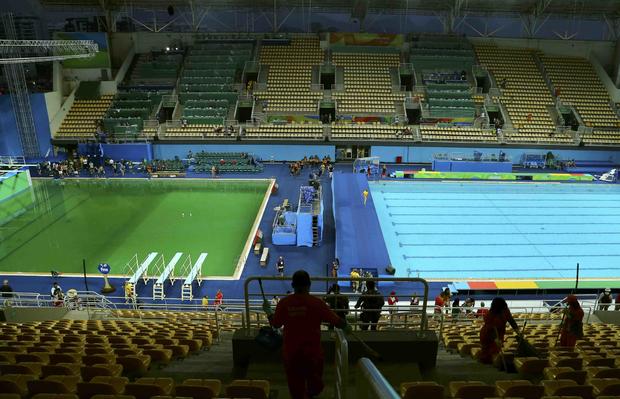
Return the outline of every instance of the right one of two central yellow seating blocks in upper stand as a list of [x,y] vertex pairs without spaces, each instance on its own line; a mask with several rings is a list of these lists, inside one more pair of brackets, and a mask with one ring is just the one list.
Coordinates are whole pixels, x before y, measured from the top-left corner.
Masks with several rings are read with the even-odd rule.
[[333,53],[334,65],[344,68],[344,91],[332,94],[340,114],[393,114],[404,94],[392,92],[390,68],[400,66],[400,54]]

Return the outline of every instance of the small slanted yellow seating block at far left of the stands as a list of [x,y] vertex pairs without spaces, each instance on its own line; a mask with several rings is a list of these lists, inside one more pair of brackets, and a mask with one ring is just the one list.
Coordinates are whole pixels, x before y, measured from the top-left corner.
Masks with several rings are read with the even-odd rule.
[[56,138],[93,139],[97,124],[110,108],[112,95],[98,100],[75,100],[56,132]]

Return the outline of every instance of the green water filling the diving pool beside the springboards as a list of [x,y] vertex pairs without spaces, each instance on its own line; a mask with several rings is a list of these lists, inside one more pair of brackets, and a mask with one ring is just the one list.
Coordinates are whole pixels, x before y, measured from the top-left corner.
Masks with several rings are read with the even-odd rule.
[[[265,181],[35,180],[34,204],[0,226],[0,272],[122,274],[149,252],[208,252],[206,275],[231,275],[265,195]],[[185,258],[185,256],[183,257]]]

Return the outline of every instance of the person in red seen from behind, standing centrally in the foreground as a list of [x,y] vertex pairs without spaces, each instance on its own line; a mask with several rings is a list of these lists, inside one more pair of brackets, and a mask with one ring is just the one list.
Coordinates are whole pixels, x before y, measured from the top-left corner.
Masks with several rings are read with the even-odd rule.
[[278,302],[275,313],[268,301],[263,302],[271,325],[284,326],[282,357],[293,399],[312,398],[323,391],[321,323],[351,329],[324,301],[309,294],[310,284],[308,272],[298,270],[292,279],[295,292]]

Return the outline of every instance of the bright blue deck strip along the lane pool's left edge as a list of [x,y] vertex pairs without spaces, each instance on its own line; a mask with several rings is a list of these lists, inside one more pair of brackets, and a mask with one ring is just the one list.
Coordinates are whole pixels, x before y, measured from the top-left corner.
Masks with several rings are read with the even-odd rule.
[[336,257],[342,274],[348,274],[352,267],[377,268],[381,274],[390,264],[372,195],[364,206],[364,190],[370,191],[365,175],[334,175]]

